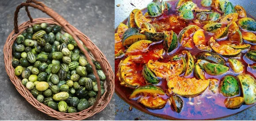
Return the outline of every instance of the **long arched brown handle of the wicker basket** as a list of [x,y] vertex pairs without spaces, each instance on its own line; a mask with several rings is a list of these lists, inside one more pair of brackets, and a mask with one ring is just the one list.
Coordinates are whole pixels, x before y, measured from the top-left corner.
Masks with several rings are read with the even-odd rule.
[[[34,4],[33,4],[34,3]],[[102,67],[102,71],[104,72],[104,74],[106,75],[106,82],[107,82],[107,90],[105,93],[105,97],[104,100],[109,96],[109,93],[111,91],[111,85],[110,85],[110,80],[109,80],[109,74],[107,73],[106,68],[104,68],[104,64],[102,62],[102,58],[100,58],[98,56],[97,53],[95,53],[94,48],[92,48],[87,42],[86,40],[83,39],[82,36],[79,36],[79,34],[77,32],[75,32],[74,28],[72,28],[72,25],[70,25],[68,23],[68,21],[66,21],[63,17],[61,17],[58,13],[56,13],[55,11],[53,11],[52,9],[50,9],[49,7],[45,6],[45,4],[38,2],[36,0],[27,0],[26,3],[22,3],[20,4],[17,8],[16,11],[14,13],[14,29],[15,29],[15,33],[19,32],[19,28],[18,28],[18,13],[20,8],[22,7],[26,7],[26,12],[28,17],[30,18],[30,22],[33,22],[33,18],[30,15],[30,12],[28,10],[28,7],[34,7],[36,9],[41,10],[42,12],[48,14],[50,17],[52,17],[53,19],[55,19],[58,23],[60,23],[60,25],[65,28],[65,30],[72,35],[72,37],[75,39],[75,42],[77,43],[77,46],[83,51],[84,55],[86,58],[90,58],[89,53],[87,52],[87,50],[85,50],[85,48],[83,47],[83,45],[79,42],[78,38],[80,40],[82,40],[83,44],[85,46],[87,46],[87,48],[90,50],[90,52],[94,55],[94,59],[101,65]],[[91,110],[93,111],[94,108],[98,105],[98,101],[100,100],[100,96],[101,96],[101,86],[100,86],[100,79],[98,76],[98,73],[96,71],[95,65],[93,64],[93,62],[91,61],[91,59],[87,59],[87,61],[89,62],[89,64],[91,65],[92,69],[93,69],[93,74],[96,77],[96,81],[97,81],[97,86],[98,86],[98,95],[97,95],[97,99],[96,102],[94,103],[93,107],[91,108]]]

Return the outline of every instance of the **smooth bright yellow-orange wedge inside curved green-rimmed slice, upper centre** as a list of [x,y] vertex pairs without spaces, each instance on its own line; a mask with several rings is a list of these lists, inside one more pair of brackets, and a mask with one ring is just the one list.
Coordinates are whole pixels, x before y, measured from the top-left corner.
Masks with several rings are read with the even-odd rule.
[[203,33],[203,29],[199,29],[193,35],[193,41],[195,46],[200,50],[211,50],[210,46],[207,46],[207,42],[205,40],[205,36]]

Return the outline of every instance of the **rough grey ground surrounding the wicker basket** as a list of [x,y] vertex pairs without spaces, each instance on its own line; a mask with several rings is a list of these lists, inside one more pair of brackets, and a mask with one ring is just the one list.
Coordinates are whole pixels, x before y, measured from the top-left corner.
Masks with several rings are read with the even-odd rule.
[[[114,68],[114,0],[40,0],[62,15],[71,25],[87,35],[107,57]],[[16,7],[25,0],[0,1],[0,48],[3,50],[13,30]],[[33,18],[46,17],[45,13],[29,8]],[[19,12],[19,24],[28,21],[25,8]],[[5,68],[3,51],[0,51],[0,120],[56,120],[28,103],[11,83]],[[86,120],[114,120],[114,99],[102,112]]]

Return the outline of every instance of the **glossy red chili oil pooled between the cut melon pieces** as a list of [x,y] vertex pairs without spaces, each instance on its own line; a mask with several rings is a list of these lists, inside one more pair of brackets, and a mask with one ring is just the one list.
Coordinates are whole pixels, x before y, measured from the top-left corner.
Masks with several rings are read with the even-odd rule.
[[[202,7],[200,4],[201,0],[192,0],[194,3],[197,4],[197,6],[199,8],[203,8],[203,9],[211,9],[211,7]],[[152,23],[163,23],[163,24],[169,24],[169,17],[171,15],[179,15],[177,10],[175,10],[175,6],[177,3],[177,0],[174,1],[168,1],[169,4],[172,5],[172,9],[169,10],[168,12],[165,11],[165,13],[156,19],[153,19]],[[147,12],[147,9],[143,9],[141,10],[143,13]],[[195,14],[196,16],[196,14]],[[247,17],[249,18],[253,18],[251,15],[247,14]],[[196,18],[196,17],[195,17]],[[239,19],[239,18],[238,18]],[[123,22],[124,24],[127,23],[127,19]],[[184,28],[187,27],[188,25],[197,25],[200,28],[203,27],[203,25],[198,25],[195,24],[193,21],[182,21],[179,25],[171,25],[170,28],[163,30],[163,31],[170,31],[173,30],[173,32],[175,32],[177,35],[179,34],[179,32]],[[174,26],[174,27],[173,27]],[[242,32],[242,30],[241,30]],[[205,37],[206,40],[208,41],[211,36],[208,35],[207,33],[205,33]],[[228,38],[226,39],[228,40]],[[220,41],[218,43],[223,44],[226,43],[228,41]],[[245,43],[245,42],[243,42]],[[254,46],[252,46],[254,47]],[[252,48],[251,47],[251,48]],[[152,50],[155,49],[163,49],[163,43],[158,43],[155,44],[153,46],[150,46],[149,50],[152,52]],[[183,50],[187,50],[186,48],[182,47],[182,46],[178,46],[178,49],[170,54],[170,55],[165,55],[163,59],[158,59],[158,61],[160,62],[168,62],[169,61],[169,57],[171,57],[172,55],[175,55],[177,53],[181,53],[181,51]],[[148,53],[140,53],[141,55],[143,55],[143,59],[145,61],[149,61],[151,59],[155,60],[152,57],[152,53],[148,52]],[[197,53],[203,52],[202,50],[197,49],[196,46],[193,46],[193,48],[191,50],[189,50],[190,53],[192,53],[192,55],[196,56]],[[256,71],[249,68],[248,64],[253,64],[253,61],[248,60],[244,55],[247,51],[242,51],[241,55],[240,55],[240,59],[242,61],[242,63],[244,64],[244,72],[245,74],[250,74],[252,75],[254,78],[256,77]],[[117,72],[119,70],[118,68],[118,64],[120,63],[120,60],[125,59],[126,57],[122,57],[120,59],[115,59],[115,74],[117,75]],[[223,57],[226,61],[228,60],[228,58]],[[196,60],[195,60],[196,61]],[[138,71],[138,74],[141,75],[142,80],[144,81],[144,78],[142,76],[142,67],[143,67],[143,63],[138,63],[136,65],[136,70]],[[226,63],[226,66],[230,65],[228,63]],[[230,70],[228,72],[226,72],[223,75],[218,75],[218,76],[212,76],[212,75],[208,75],[205,73],[205,77],[206,78],[216,78],[219,80],[221,80],[222,77],[224,77],[225,75],[234,75],[237,76],[239,74],[234,73],[232,71],[232,69],[230,68]],[[183,75],[181,75],[183,76]],[[188,76],[188,78],[193,78],[193,72],[191,75]],[[229,116],[232,114],[236,114],[238,112],[241,112],[242,110],[245,110],[248,107],[251,107],[253,105],[242,105],[240,108],[238,109],[227,109],[224,105],[224,100],[227,98],[225,96],[223,96],[221,93],[218,94],[214,94],[211,93],[209,87],[200,95],[200,96],[196,96],[194,98],[184,98],[181,97],[184,101],[184,105],[183,108],[181,110],[180,113],[177,113],[173,110],[173,108],[169,105],[169,103],[166,103],[166,106],[163,107],[162,109],[149,109],[146,108],[145,106],[143,106],[142,104],[140,104],[137,100],[131,100],[129,99],[130,94],[132,93],[132,91],[134,89],[125,87],[120,85],[120,81],[118,79],[119,77],[116,76],[115,78],[115,92],[127,103],[129,103],[130,105],[132,105],[133,107],[136,107],[137,109],[146,112],[148,114],[152,114],[158,117],[163,117],[163,118],[168,118],[168,119],[190,119],[190,120],[200,120],[200,119],[215,119],[215,118],[219,118],[219,117],[225,117],[225,116]],[[161,79],[160,82],[158,83],[159,87],[161,87],[165,92],[167,92],[168,86],[167,86],[167,81],[165,79]],[[241,93],[239,93],[236,96],[241,96]],[[163,98],[167,99],[169,98],[167,95],[163,96]],[[188,102],[192,102],[188,103]]]

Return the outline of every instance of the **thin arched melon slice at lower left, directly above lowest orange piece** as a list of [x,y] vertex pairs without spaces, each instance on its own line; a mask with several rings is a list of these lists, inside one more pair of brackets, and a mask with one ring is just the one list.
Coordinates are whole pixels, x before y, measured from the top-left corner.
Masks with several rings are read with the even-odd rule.
[[140,86],[132,92],[130,95],[130,99],[135,98],[137,95],[141,93],[148,93],[148,94],[158,94],[158,95],[165,95],[165,92],[158,86],[155,85],[143,85]]

